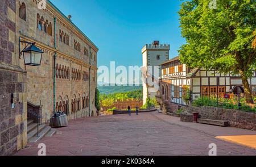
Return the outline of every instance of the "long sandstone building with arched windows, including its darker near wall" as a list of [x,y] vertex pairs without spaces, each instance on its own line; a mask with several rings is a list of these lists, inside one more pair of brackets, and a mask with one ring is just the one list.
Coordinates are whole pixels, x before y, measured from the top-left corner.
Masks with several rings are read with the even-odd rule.
[[[27,108],[38,106],[42,122],[54,111],[69,119],[96,115],[98,48],[70,16],[41,2],[1,1],[0,155],[26,146]],[[35,42],[44,52],[40,66],[24,65],[19,52],[27,44],[19,41]]]

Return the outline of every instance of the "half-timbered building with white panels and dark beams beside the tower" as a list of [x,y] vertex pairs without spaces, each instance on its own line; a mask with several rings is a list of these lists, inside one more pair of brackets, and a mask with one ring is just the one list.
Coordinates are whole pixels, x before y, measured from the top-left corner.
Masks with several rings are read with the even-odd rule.
[[[180,62],[179,56],[161,64],[162,77],[160,78],[160,90],[156,98],[162,101],[170,101],[177,105],[187,105],[183,94],[186,87],[192,93],[192,99],[201,96],[224,97],[225,94],[243,94],[243,84],[239,75],[220,73],[217,70],[189,68]],[[249,78],[252,93],[256,93],[256,74]]]

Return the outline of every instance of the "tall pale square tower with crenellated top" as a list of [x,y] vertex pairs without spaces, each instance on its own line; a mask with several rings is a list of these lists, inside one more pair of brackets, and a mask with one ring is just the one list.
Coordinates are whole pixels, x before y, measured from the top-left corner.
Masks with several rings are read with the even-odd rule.
[[143,103],[146,102],[147,97],[154,98],[155,95],[157,95],[158,89],[148,84],[148,78],[150,78],[152,82],[156,79],[158,80],[161,76],[159,65],[169,60],[169,52],[170,45],[160,44],[159,41],[146,44],[142,48]]

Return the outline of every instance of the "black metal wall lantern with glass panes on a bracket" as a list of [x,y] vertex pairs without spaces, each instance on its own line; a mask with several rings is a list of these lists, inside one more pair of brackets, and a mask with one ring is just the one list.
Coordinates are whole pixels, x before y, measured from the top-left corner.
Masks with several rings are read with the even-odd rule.
[[[20,55],[23,53],[25,65],[39,66],[41,65],[43,51],[35,46],[35,43],[30,43],[27,41],[19,41],[26,43],[27,46],[20,52]],[[19,49],[20,51],[20,49]]]

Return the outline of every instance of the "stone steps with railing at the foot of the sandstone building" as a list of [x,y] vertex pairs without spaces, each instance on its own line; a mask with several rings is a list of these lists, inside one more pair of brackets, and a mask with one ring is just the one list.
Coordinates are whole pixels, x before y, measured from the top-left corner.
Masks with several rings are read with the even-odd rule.
[[51,137],[56,133],[55,129],[47,126],[46,124],[34,123],[34,120],[27,121],[27,141],[28,143],[35,143],[42,139],[44,136]]

